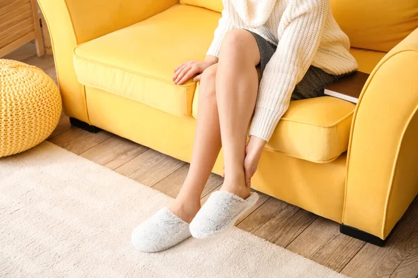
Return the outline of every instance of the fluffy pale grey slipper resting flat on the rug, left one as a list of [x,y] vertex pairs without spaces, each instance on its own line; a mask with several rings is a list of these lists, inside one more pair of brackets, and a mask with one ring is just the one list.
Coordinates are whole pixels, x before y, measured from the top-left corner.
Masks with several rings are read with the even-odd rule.
[[141,252],[167,250],[189,238],[189,223],[183,221],[169,208],[161,208],[132,231],[131,242]]

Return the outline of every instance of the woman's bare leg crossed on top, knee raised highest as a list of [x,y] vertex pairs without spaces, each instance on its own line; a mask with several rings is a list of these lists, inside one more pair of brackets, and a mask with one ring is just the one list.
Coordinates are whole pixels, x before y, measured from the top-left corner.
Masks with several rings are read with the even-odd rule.
[[245,30],[229,31],[222,42],[216,75],[226,173],[221,190],[242,198],[249,195],[245,185],[245,144],[258,92],[258,63],[260,52],[254,36]]

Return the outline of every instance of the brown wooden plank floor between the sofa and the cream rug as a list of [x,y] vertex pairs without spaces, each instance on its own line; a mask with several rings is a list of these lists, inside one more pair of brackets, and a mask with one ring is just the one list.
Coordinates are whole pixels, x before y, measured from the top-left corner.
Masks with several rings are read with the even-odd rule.
[[[5,58],[41,67],[56,81],[54,59],[36,57],[33,43]],[[188,163],[106,131],[93,134],[72,127],[65,115],[48,140],[171,197],[176,197],[189,169]],[[222,181],[210,175],[202,202]],[[349,277],[418,277],[418,198],[385,247],[340,234],[338,223],[262,193],[236,226]]]

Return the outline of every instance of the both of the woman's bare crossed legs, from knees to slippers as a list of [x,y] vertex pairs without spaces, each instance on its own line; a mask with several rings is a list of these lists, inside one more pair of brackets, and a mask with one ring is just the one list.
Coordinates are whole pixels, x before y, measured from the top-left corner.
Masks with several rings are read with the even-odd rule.
[[186,222],[191,222],[201,207],[201,193],[222,145],[227,174],[221,190],[244,198],[249,194],[244,177],[245,142],[260,78],[256,70],[260,53],[254,36],[244,30],[230,31],[219,58],[219,64],[208,67],[202,75],[192,161],[185,183],[170,206]]

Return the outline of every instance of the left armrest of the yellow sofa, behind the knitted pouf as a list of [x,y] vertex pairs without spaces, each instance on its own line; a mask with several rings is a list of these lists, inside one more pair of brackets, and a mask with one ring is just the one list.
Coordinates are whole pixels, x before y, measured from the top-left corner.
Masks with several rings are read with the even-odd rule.
[[38,0],[51,35],[66,115],[90,123],[84,86],[77,81],[72,50],[83,42],[167,10],[179,0]]

